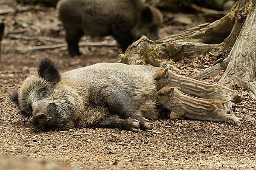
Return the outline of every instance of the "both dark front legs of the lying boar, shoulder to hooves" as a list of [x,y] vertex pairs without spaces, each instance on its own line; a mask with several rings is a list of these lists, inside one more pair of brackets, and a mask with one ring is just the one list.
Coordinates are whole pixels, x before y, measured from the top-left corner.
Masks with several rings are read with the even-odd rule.
[[126,91],[109,85],[100,88],[101,91],[97,90],[99,89],[97,86],[96,89],[91,89],[90,96],[94,96],[92,100],[96,101],[92,105],[96,107],[87,108],[87,115],[95,116],[102,111],[101,114],[104,116],[97,123],[98,127],[122,127],[134,132],[137,132],[139,128],[151,130],[148,120],[134,109],[134,102]]

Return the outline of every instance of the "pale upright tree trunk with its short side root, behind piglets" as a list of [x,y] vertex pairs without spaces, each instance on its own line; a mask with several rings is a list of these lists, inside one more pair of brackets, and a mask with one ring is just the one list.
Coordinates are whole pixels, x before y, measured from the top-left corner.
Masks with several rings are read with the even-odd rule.
[[[234,32],[240,32],[229,56],[223,62],[192,76],[195,79],[203,79],[207,76],[216,76],[219,71],[225,71],[218,84],[231,87],[243,86],[249,91],[250,96],[256,99],[256,10],[255,1],[247,3],[245,8],[246,20],[241,31],[233,28]],[[240,16],[241,18],[241,16]],[[230,37],[235,35],[230,34]],[[232,39],[235,39],[233,36]],[[228,40],[226,40],[227,42]],[[231,41],[229,41],[231,42]]]

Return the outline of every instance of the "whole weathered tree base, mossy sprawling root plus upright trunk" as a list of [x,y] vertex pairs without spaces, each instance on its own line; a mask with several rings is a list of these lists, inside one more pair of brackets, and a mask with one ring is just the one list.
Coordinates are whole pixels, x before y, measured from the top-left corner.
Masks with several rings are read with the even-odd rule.
[[256,0],[239,0],[225,17],[158,41],[143,36],[125,51],[121,62],[159,66],[161,59],[177,61],[207,52],[233,47],[220,63],[192,75],[195,79],[216,76],[224,71],[219,84],[247,88],[256,99]]

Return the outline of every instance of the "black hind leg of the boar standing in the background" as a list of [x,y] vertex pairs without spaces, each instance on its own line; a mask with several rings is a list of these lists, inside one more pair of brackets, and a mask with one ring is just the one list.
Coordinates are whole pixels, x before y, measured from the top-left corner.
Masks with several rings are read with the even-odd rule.
[[80,29],[73,29],[72,31],[66,31],[66,41],[68,45],[68,52],[71,57],[80,56],[78,42],[83,36],[83,31]]

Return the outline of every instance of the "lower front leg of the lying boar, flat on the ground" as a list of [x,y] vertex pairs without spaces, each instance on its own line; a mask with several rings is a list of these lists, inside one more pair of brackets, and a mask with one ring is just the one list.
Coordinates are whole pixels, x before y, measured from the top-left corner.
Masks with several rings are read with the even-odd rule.
[[[149,125],[148,125],[149,126]],[[120,119],[119,116],[112,115],[107,118],[103,118],[96,123],[95,127],[104,127],[104,128],[119,128],[121,127],[124,130],[129,130],[133,132],[139,132],[140,123],[136,119]],[[147,129],[151,128],[150,126]]]

